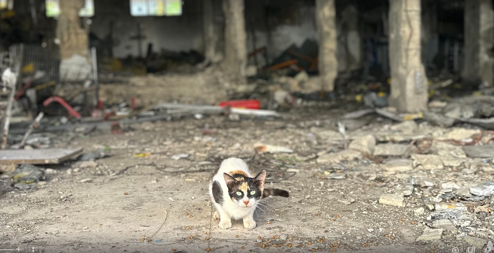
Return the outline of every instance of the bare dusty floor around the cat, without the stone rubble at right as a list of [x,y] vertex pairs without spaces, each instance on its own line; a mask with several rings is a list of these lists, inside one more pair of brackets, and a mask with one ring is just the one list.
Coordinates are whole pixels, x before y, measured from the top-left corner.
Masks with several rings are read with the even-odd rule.
[[[441,240],[415,242],[426,227],[422,221],[427,214],[413,212],[423,206],[419,199],[407,197],[405,207],[395,207],[379,204],[379,196],[411,175],[427,176],[437,183],[489,181],[491,175],[418,168],[383,175],[374,166],[376,159],[363,158],[337,164],[346,179],[324,179],[321,172],[335,165],[310,158],[321,150],[340,147],[324,138],[313,142],[309,137],[315,130],[334,129],[332,123],[324,117],[274,122],[213,117],[142,123],[123,135],[60,134],[53,137],[54,146],[81,146],[85,151],[110,146],[112,156],[43,166],[55,172],[46,174],[37,189],[26,192],[9,186],[11,175],[3,174],[1,182],[7,190],[0,193],[0,249],[22,245],[31,252],[35,245],[36,251],[46,253],[432,253],[458,247],[465,252],[469,245],[457,240],[456,233],[445,233]],[[379,122],[354,132],[377,133],[390,124]],[[320,127],[311,128],[316,125]],[[428,126],[426,131],[448,130]],[[288,146],[294,153],[256,154],[252,145],[257,142]],[[148,157],[134,156],[146,152]],[[179,153],[190,156],[171,159]],[[254,216],[254,229],[245,229],[242,221],[221,229],[212,218],[208,183],[221,160],[231,156],[244,158],[253,171],[267,170],[269,187],[291,194],[269,199],[269,205]],[[378,179],[367,180],[367,174]],[[91,181],[81,182],[85,179]]]

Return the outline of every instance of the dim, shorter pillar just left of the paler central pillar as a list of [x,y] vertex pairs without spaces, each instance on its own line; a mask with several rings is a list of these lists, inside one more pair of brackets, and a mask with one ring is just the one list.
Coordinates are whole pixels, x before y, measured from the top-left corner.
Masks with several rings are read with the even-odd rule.
[[218,50],[218,41],[221,36],[219,35],[219,27],[215,22],[216,2],[217,0],[203,1],[204,53],[206,59],[211,63],[218,63],[222,58],[222,53]]

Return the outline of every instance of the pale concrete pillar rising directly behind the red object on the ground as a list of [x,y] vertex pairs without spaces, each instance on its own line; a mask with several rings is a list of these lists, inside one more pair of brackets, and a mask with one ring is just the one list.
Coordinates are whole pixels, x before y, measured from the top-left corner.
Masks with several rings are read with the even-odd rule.
[[247,32],[244,0],[223,0],[225,14],[225,70],[238,83],[246,82]]

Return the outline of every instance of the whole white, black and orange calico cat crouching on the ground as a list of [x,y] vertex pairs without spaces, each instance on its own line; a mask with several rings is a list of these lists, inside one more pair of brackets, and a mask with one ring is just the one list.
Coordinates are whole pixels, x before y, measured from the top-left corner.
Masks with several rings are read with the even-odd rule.
[[288,198],[288,191],[265,189],[266,171],[252,176],[244,160],[224,160],[209,185],[209,195],[216,207],[214,218],[219,218],[220,228],[232,227],[232,218],[243,219],[245,228],[254,228],[254,211],[260,200],[268,196]]

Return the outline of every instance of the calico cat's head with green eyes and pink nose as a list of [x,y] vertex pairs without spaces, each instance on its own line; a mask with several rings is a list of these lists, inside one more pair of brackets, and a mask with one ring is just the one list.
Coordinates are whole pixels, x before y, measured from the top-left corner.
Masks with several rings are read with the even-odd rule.
[[255,206],[256,202],[262,198],[266,171],[262,171],[253,178],[232,177],[227,173],[223,173],[223,177],[228,186],[231,200],[237,203],[239,207]]

